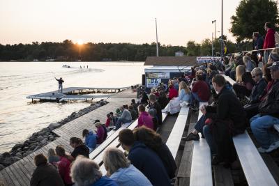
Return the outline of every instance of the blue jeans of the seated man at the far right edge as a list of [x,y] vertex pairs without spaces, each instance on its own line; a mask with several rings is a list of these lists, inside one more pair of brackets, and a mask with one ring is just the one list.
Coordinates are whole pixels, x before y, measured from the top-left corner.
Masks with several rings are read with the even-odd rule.
[[261,117],[257,114],[250,118],[252,133],[262,148],[269,148],[273,142],[279,140],[278,135],[269,132],[269,128],[273,127],[275,124],[279,124],[279,118],[269,115]]

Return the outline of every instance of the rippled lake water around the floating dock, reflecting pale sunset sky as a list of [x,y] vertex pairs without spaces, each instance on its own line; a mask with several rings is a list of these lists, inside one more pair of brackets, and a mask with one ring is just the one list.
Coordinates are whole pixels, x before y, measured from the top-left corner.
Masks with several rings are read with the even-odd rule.
[[[40,102],[31,104],[27,95],[70,86],[123,87],[140,84],[144,63],[116,62],[1,62],[0,63],[0,153],[24,141],[50,123],[66,118],[90,102]],[[62,68],[70,65],[72,68]],[[82,69],[80,69],[82,65]],[[89,65],[89,68],[86,68]],[[85,66],[85,68],[83,68]],[[105,116],[104,116],[105,117]]]

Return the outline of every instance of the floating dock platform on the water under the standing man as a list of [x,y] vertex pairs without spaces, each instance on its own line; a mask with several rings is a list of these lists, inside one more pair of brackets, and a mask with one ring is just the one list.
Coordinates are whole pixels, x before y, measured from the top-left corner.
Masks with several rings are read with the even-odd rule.
[[[27,99],[37,99],[37,100],[56,100],[59,102],[67,101],[67,100],[93,100],[96,98],[110,98],[110,96],[114,95],[116,91],[125,90],[130,88],[126,87],[116,87],[116,88],[102,88],[102,87],[68,87],[63,88],[63,93],[59,93],[59,91],[51,91],[47,93],[39,93],[35,95],[27,96]],[[104,94],[104,95],[80,95],[82,92],[88,91],[110,91],[113,94]]]

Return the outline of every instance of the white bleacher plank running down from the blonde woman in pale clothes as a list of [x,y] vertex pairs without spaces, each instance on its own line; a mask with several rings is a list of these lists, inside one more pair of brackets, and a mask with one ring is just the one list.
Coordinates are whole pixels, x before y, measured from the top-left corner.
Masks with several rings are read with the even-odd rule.
[[189,113],[188,107],[185,107],[186,109],[183,108],[184,107],[182,107],[181,111],[179,112],[179,116],[174,123],[172,132],[169,134],[169,138],[167,139],[166,143],[174,158],[176,157],[177,150],[179,150],[181,137],[183,135]]

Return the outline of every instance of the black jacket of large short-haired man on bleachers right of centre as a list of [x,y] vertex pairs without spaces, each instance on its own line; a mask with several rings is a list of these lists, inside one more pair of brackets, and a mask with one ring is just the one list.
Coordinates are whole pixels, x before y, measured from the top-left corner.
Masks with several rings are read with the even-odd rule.
[[205,116],[213,120],[231,120],[234,127],[232,130],[236,134],[243,133],[246,130],[246,114],[241,106],[241,102],[226,87],[216,96],[215,106],[206,107]]

